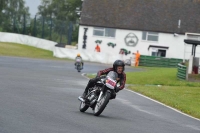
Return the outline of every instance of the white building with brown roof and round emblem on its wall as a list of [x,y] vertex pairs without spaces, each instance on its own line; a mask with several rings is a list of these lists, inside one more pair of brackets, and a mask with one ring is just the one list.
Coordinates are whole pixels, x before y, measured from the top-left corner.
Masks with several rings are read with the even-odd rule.
[[[85,0],[78,47],[94,51],[99,40],[101,52],[119,54],[123,48],[130,51],[127,58],[139,50],[141,55],[189,59],[192,47],[184,39],[200,40],[199,12],[200,2],[191,0]],[[196,50],[200,57],[200,47]]]

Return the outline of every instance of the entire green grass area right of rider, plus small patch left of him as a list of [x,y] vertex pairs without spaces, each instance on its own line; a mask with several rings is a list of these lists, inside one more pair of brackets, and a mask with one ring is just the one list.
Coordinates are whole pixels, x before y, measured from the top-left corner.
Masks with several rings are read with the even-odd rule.
[[[133,85],[128,89],[200,119],[200,82],[177,79],[177,68],[139,68],[143,68],[144,71],[126,73],[126,83]],[[93,74],[87,76],[95,77]]]

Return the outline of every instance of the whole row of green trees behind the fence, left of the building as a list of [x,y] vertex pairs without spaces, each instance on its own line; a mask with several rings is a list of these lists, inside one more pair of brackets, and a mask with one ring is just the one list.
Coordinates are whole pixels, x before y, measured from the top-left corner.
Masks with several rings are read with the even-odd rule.
[[66,40],[70,25],[72,41],[78,41],[81,0],[41,0],[38,12],[31,18],[25,0],[0,0],[0,31],[29,34],[53,41]]

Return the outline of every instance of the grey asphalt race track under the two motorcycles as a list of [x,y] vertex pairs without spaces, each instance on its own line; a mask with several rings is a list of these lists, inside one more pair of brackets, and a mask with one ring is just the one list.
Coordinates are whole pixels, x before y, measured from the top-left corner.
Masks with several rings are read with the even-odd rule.
[[[85,63],[81,73],[109,66]],[[199,120],[127,90],[99,117],[79,112],[81,73],[72,61],[0,57],[0,133],[200,133]]]

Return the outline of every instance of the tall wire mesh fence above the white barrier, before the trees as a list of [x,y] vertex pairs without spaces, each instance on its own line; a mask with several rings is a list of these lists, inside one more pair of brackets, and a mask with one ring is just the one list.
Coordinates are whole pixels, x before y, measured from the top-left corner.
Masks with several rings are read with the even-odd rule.
[[9,28],[3,27],[4,32],[30,35],[71,45],[78,41],[78,25],[76,22],[57,20],[52,17],[23,15],[22,18],[12,17]]

